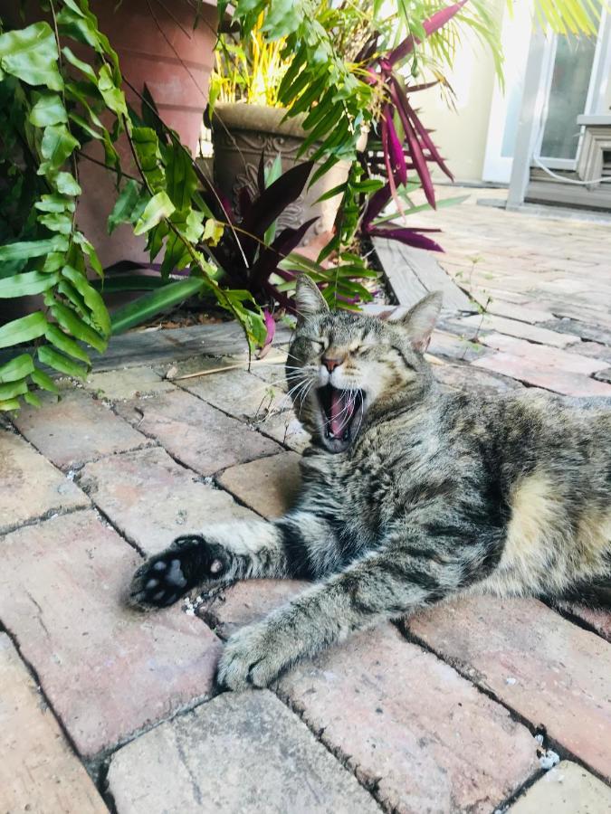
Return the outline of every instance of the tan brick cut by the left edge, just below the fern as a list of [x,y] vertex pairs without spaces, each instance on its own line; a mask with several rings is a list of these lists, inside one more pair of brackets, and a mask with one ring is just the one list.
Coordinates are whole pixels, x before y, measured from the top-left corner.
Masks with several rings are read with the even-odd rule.
[[88,506],[81,489],[14,432],[0,431],[0,533],[52,512]]

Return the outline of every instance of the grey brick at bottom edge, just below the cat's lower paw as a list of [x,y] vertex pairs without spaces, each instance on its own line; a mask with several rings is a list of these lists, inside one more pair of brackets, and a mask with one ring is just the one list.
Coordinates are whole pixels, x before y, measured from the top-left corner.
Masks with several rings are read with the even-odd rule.
[[374,814],[368,792],[267,690],[223,695],[124,746],[118,814]]

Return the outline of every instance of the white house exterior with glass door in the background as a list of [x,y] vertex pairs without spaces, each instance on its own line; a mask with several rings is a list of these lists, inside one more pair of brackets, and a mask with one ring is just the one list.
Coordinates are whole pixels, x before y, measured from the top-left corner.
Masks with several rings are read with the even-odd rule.
[[458,181],[510,185],[511,205],[611,210],[611,13],[597,38],[577,38],[541,33],[531,0],[513,5],[511,16],[494,0],[505,90],[490,54],[465,40],[448,77],[455,109],[439,90],[425,91],[425,124]]

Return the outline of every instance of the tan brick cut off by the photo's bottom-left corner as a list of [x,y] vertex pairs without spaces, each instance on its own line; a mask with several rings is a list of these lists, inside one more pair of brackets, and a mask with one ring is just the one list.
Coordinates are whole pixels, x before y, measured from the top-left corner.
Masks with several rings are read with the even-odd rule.
[[0,686],[0,811],[107,814],[5,633],[0,633]]

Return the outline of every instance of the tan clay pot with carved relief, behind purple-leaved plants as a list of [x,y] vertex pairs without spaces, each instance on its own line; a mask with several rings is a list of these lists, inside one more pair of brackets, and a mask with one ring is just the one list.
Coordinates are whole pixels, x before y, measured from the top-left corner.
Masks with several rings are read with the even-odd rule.
[[[300,164],[307,159],[297,154],[306,137],[301,125],[302,116],[282,121],[286,110],[260,105],[216,104],[212,119],[212,143],[214,147],[215,182],[229,199],[236,211],[239,210],[238,194],[245,186],[251,194],[257,190],[257,170],[261,154],[265,154],[265,164],[270,166],[280,153],[282,171]],[[312,155],[318,145],[312,147]],[[330,232],[338,212],[341,195],[317,203],[322,194],[343,184],[348,177],[349,164],[340,161],[316,184],[306,187],[303,194],[279,217],[281,228],[297,227],[310,218],[318,216],[305,237],[308,243],[321,232]]]

